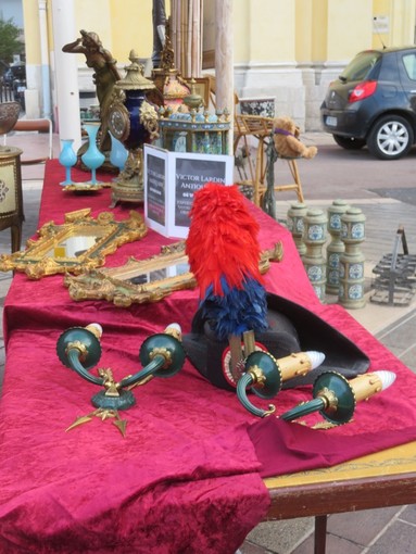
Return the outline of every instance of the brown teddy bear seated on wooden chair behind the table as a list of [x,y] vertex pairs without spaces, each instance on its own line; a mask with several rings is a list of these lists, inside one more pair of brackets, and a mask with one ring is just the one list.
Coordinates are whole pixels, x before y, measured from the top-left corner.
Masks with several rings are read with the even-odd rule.
[[300,129],[297,124],[287,116],[275,117],[273,122],[273,137],[277,153],[282,158],[306,158],[312,160],[317,153],[317,148],[305,147],[299,140]]

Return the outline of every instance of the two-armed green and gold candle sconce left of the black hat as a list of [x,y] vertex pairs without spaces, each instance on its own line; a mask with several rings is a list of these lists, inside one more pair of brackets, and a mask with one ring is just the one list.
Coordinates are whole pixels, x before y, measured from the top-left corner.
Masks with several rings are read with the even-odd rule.
[[102,327],[90,324],[87,327],[71,327],[58,339],[56,353],[62,364],[75,370],[88,382],[101,387],[91,398],[93,412],[78,417],[66,430],[90,421],[94,416],[102,420],[114,419],[114,425],[123,436],[126,420],[118,411],[128,410],[136,404],[131,388],[144,385],[152,377],[173,377],[185,363],[185,350],[181,343],[181,330],[178,324],[171,324],[163,332],[148,337],[140,347],[139,361],[143,366],[134,375],[115,381],[111,368],[98,368],[98,375],[90,373],[101,357]]

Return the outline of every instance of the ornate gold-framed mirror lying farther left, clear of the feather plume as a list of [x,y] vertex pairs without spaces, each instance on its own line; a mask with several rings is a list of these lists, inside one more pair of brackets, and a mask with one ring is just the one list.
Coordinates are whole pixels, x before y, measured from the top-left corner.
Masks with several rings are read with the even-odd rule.
[[0,272],[24,272],[30,279],[67,272],[80,274],[100,267],[108,254],[148,232],[137,212],[130,211],[122,222],[110,212],[97,218],[90,213],[90,209],[78,210],[65,214],[62,225],[46,223],[37,231],[39,238],[27,241],[26,250],[0,255]]

